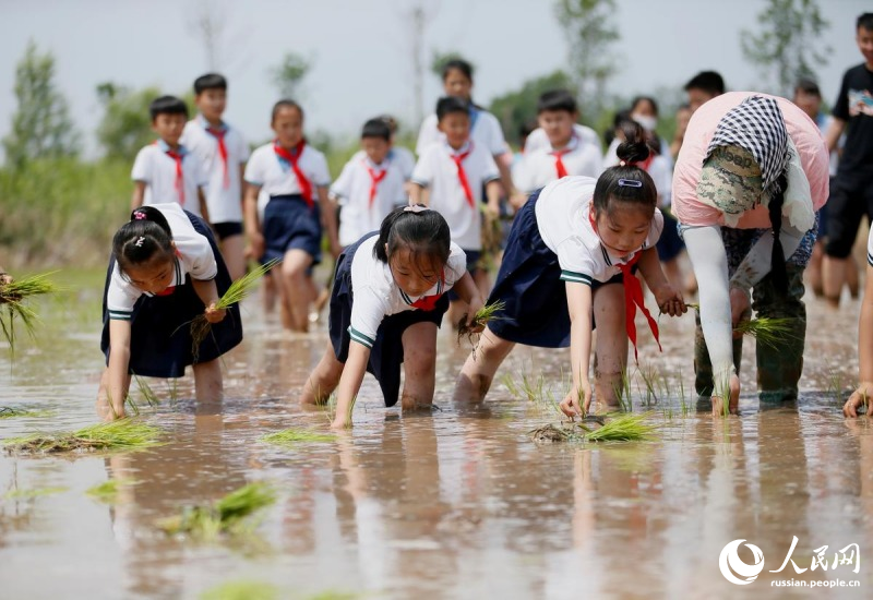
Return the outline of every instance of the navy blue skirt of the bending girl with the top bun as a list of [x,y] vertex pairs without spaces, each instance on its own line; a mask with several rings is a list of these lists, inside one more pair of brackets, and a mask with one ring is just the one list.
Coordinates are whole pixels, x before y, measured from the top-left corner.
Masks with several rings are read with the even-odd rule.
[[[530,194],[513,220],[498,280],[488,297],[488,303],[502,301],[505,308],[488,328],[509,341],[566,348],[570,346],[566,281],[561,280],[558,254],[549,250],[539,235],[535,208],[540,191]],[[623,283],[620,273],[608,281],[594,281],[591,291],[607,284]]]

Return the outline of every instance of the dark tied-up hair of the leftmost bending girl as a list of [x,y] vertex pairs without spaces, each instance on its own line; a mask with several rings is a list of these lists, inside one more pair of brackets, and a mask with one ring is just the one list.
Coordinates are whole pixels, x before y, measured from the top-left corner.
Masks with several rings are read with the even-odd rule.
[[141,206],[112,237],[112,255],[119,268],[147,263],[156,254],[172,256],[172,231],[167,217],[154,206]]

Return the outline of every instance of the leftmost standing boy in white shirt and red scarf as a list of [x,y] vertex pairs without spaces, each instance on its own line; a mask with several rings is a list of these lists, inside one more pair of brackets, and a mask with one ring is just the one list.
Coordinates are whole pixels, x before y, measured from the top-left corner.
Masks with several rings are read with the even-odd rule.
[[160,96],[148,106],[152,130],[158,140],[136,155],[131,208],[143,204],[178,202],[182,208],[210,223],[206,196],[208,177],[203,163],[180,144],[188,121],[188,107],[174,96]]

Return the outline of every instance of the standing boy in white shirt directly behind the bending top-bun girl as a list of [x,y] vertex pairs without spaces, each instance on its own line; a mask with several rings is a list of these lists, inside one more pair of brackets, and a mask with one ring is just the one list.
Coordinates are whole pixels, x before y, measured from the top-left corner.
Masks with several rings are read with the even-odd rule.
[[[537,103],[537,121],[549,137],[548,145],[526,152],[515,184],[527,194],[569,175],[597,177],[601,170],[599,149],[584,143],[573,130],[578,109],[573,95],[565,89],[546,92]],[[519,202],[521,201],[521,202]]]

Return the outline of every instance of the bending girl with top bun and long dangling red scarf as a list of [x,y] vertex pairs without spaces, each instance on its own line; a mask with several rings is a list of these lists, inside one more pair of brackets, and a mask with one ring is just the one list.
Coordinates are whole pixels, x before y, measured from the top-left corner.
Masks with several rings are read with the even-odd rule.
[[[637,266],[661,312],[685,312],[682,296],[663,276],[655,250],[661,230],[651,178],[636,166],[648,156],[643,130],[631,127],[619,146],[621,163],[599,179],[565,177],[535,192],[518,212],[489,304],[502,301],[458,375],[455,397],[481,400],[515,344],[570,346],[573,385],[562,399],[569,417],[588,411],[591,334],[597,397],[618,407],[627,339],[636,347],[633,315],[643,304]],[[625,335],[626,332],[626,335]]]

